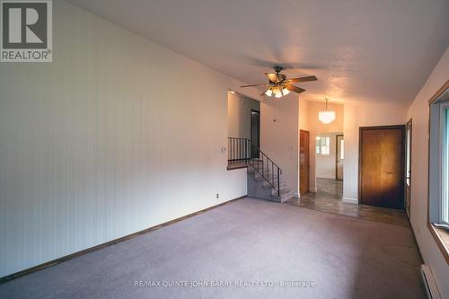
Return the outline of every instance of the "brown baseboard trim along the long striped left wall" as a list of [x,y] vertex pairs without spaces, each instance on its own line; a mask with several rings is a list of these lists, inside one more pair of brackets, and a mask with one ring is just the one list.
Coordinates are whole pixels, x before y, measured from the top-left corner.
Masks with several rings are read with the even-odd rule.
[[101,243],[101,244],[99,244],[99,245],[96,245],[96,246],[87,248],[87,249],[85,249],[85,250],[83,250],[83,251],[76,251],[76,252],[71,253],[71,254],[69,254],[69,255],[66,255],[66,256],[64,256],[64,257],[61,257],[61,258],[58,258],[58,259],[53,259],[53,260],[47,261],[47,262],[45,262],[45,263],[43,263],[43,264],[40,264],[40,265],[31,267],[31,268],[26,268],[26,269],[23,269],[22,271],[19,271],[19,272],[16,272],[16,273],[13,273],[13,274],[4,276],[4,277],[0,277],[0,285],[1,285],[1,284],[4,284],[5,282],[8,282],[8,281],[10,281],[10,280],[13,280],[13,279],[15,279],[15,278],[23,277],[23,276],[28,275],[28,274],[31,274],[31,273],[33,273],[33,272],[40,271],[40,270],[42,270],[42,269],[44,269],[44,268],[56,266],[57,264],[60,264],[60,263],[62,263],[62,262],[64,262],[64,261],[66,261],[66,260],[69,260],[69,259],[75,259],[75,258],[77,258],[77,257],[80,257],[80,256],[82,256],[82,255],[84,255],[84,254],[87,254],[87,253],[89,253],[89,252],[92,252],[92,251],[99,251],[99,250],[101,250],[101,249],[103,249],[103,248],[105,248],[105,247],[108,247],[108,246],[110,246],[110,245],[114,245],[114,244],[117,244],[117,243],[119,243],[119,242],[124,242],[124,241],[127,241],[127,240],[129,240],[129,239],[135,238],[135,237],[137,237],[137,236],[139,236],[139,235],[142,235],[142,234],[145,234],[145,233],[153,232],[153,231],[155,231],[155,230],[158,230],[158,229],[163,228],[163,227],[165,227],[165,226],[168,226],[168,225],[170,225],[170,224],[175,224],[175,223],[177,223],[177,222],[180,222],[180,221],[185,220],[185,219],[187,219],[187,218],[193,217],[193,216],[195,216],[195,215],[203,214],[203,213],[205,213],[205,212],[207,212],[207,211],[210,211],[210,210],[212,210],[212,209],[214,209],[214,208],[216,208],[216,207],[222,207],[222,206],[225,206],[225,205],[227,205],[227,204],[229,204],[229,203],[232,203],[233,201],[236,201],[236,200],[239,200],[239,199],[242,199],[242,198],[246,198],[247,196],[248,196],[248,195],[244,195],[244,196],[239,197],[239,198],[233,198],[233,199],[231,199],[231,200],[222,202],[221,204],[218,204],[218,205],[215,205],[215,206],[212,206],[212,207],[207,207],[207,208],[205,208],[205,209],[199,210],[198,212],[194,212],[194,213],[191,213],[191,214],[189,214],[189,215],[184,215],[184,216],[181,216],[181,217],[179,217],[179,218],[176,218],[176,219],[173,219],[173,220],[164,222],[163,224],[157,224],[157,225],[154,225],[154,226],[152,226],[152,227],[146,228],[145,230],[142,230],[142,231],[139,231],[139,232],[136,232],[136,233],[131,233],[131,234],[128,234],[128,235],[126,235],[126,236],[120,237],[120,238],[118,238],[118,239],[111,240],[111,241],[109,241],[109,242]]

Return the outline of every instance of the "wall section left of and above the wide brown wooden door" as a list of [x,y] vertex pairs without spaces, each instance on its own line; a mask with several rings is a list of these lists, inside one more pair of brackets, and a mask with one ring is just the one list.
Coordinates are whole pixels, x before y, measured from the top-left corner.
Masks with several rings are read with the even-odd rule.
[[343,201],[358,202],[358,133],[360,127],[405,124],[406,107],[382,102],[345,102],[345,171]]

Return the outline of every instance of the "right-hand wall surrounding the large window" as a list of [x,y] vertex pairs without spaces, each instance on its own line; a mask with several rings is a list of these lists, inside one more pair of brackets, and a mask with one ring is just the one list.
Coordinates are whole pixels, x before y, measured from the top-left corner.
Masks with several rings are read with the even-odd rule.
[[413,121],[411,152],[410,221],[424,262],[432,268],[443,298],[449,297],[449,266],[427,228],[428,102],[449,80],[449,48],[426,84],[410,105],[407,119]]

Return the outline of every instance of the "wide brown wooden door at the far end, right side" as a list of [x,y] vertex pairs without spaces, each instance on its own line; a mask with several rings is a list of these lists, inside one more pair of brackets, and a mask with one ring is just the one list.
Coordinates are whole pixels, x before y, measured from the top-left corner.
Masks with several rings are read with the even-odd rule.
[[360,128],[359,201],[404,208],[404,126]]

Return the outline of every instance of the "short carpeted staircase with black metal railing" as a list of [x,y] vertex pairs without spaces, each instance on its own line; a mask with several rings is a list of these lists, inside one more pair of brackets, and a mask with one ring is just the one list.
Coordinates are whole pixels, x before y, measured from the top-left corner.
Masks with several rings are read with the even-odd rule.
[[285,202],[294,196],[282,180],[282,170],[247,138],[228,138],[228,169],[247,168],[248,196]]

